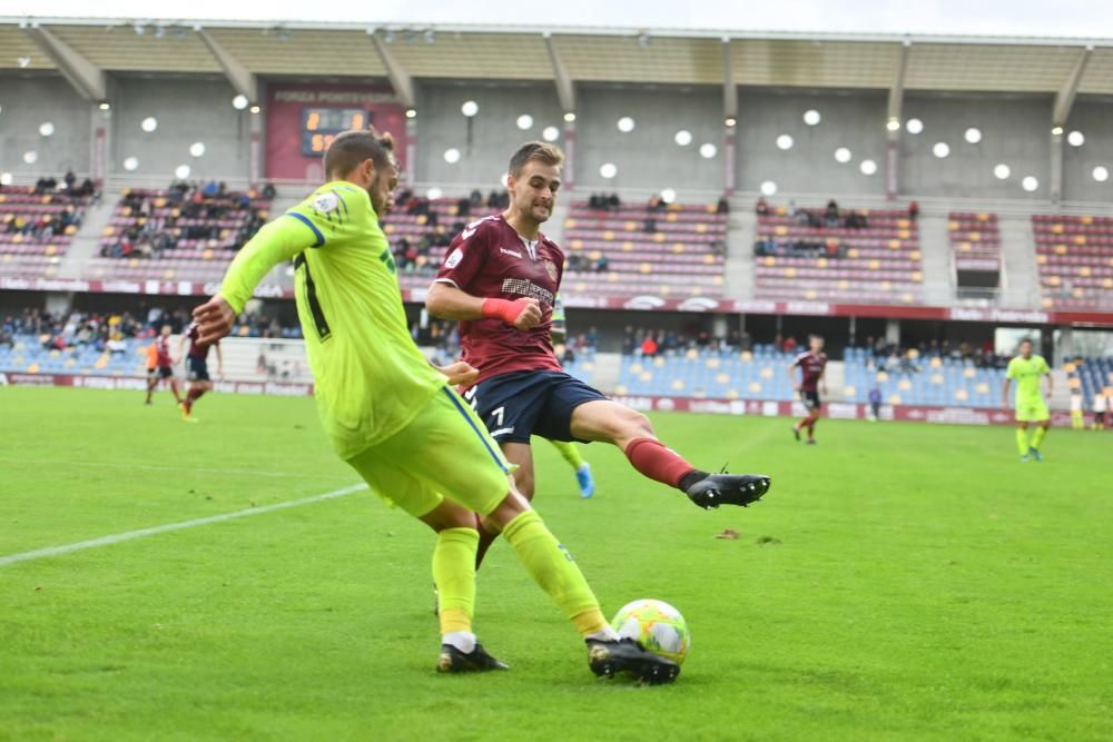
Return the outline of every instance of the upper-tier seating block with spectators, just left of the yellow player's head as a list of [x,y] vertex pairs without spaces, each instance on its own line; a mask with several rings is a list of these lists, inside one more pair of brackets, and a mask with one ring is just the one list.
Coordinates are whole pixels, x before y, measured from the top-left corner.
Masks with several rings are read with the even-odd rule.
[[267,220],[269,199],[216,184],[125,190],[100,238],[88,278],[220,280],[228,263]]

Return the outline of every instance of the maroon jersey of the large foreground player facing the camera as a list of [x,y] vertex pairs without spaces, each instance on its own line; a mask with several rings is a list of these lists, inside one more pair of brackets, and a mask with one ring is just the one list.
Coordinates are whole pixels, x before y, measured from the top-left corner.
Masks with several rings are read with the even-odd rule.
[[520,330],[502,319],[460,323],[461,357],[480,370],[476,384],[520,370],[561,370],[550,336],[564,254],[544,235],[524,240],[502,215],[467,225],[449,246],[436,280],[484,299],[536,299],[541,324]]

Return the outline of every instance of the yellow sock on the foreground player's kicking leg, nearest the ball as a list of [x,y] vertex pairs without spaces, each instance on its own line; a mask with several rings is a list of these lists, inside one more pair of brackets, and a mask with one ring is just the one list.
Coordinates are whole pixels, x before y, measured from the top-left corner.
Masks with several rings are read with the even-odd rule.
[[580,567],[549,532],[540,515],[533,511],[522,513],[506,524],[503,535],[525,571],[575,624],[581,635],[594,634],[607,627],[599,601]]

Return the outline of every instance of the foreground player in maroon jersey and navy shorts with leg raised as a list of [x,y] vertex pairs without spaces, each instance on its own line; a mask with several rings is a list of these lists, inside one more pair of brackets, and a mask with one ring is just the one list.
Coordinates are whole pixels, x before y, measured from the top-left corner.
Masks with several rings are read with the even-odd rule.
[[[563,161],[552,145],[523,145],[508,170],[510,207],[456,236],[430,287],[426,308],[460,320],[463,360],[480,370],[464,397],[518,465],[515,482],[526,497],[533,496],[530,436],[539,435],[614,444],[641,474],[677,487],[700,507],[759,499],[768,476],[696,468],[658,441],[644,415],[561,369],[550,326],[564,254],[540,228],[552,216]],[[487,536],[484,544],[494,538]]]

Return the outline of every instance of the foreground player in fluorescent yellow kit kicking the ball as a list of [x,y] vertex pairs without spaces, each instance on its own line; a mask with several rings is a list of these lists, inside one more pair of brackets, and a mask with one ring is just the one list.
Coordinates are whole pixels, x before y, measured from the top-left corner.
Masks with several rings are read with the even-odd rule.
[[474,380],[475,369],[439,370],[414,345],[378,225],[397,185],[393,149],[390,135],[373,130],[338,136],[325,152],[328,182],[259,230],[220,291],[194,310],[199,342],[227,335],[259,280],[294,260],[297,314],[333,448],[372,489],[436,533],[437,671],[506,669],[472,633],[477,514],[580,631],[597,675],[673,680],[676,663],[619,640],[569,552],[508,477],[499,445],[449,386]]

